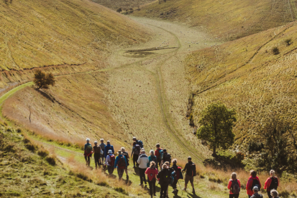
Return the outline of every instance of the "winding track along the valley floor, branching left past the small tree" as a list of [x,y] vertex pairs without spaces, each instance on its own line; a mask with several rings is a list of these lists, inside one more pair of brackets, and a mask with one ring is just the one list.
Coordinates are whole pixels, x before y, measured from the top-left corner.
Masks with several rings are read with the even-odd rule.
[[[141,22],[140,22],[141,23]],[[146,24],[147,26],[153,26],[151,24]],[[169,107],[168,107],[168,101],[165,95],[165,89],[164,89],[164,84],[163,84],[163,78],[162,78],[162,72],[161,72],[161,66],[166,62],[166,60],[176,56],[181,48],[181,42],[178,39],[178,36],[176,34],[174,34],[172,31],[166,30],[164,28],[160,28],[157,26],[154,26],[155,28],[159,28],[162,29],[163,31],[167,31],[168,33],[170,33],[175,39],[176,42],[178,43],[178,47],[172,47],[169,49],[174,49],[171,52],[167,52],[167,53],[163,53],[163,54],[159,54],[159,55],[154,55],[151,57],[146,57],[146,58],[140,58],[137,61],[134,61],[132,63],[128,63],[128,64],[122,64],[119,67],[113,67],[113,68],[107,68],[107,69],[100,69],[100,70],[94,70],[94,71],[88,71],[88,72],[79,72],[79,73],[72,73],[72,74],[62,74],[62,75],[57,75],[55,76],[57,77],[61,77],[61,76],[67,76],[67,75],[78,75],[78,74],[88,74],[88,73],[94,73],[94,72],[103,72],[103,71],[108,71],[108,70],[114,70],[114,69],[119,69],[119,68],[125,68],[128,67],[130,65],[139,65],[136,68],[144,70],[146,72],[149,72],[150,74],[152,74],[154,76],[155,82],[156,82],[156,89],[157,89],[157,93],[158,93],[158,103],[160,106],[160,111],[163,117],[163,122],[165,124],[165,126],[168,128],[168,130],[171,132],[172,134],[172,139],[181,147],[183,148],[183,151],[185,151],[186,153],[190,154],[191,156],[194,156],[197,160],[199,160],[200,162],[202,162],[203,160],[200,159],[196,154],[194,154],[194,152],[196,152],[196,149],[189,145],[189,143],[187,143],[187,141],[184,139],[184,137],[181,135],[181,133],[177,130],[175,124],[174,124],[174,120],[170,115],[169,112]],[[144,52],[144,51],[150,51],[150,50],[161,50],[164,48],[160,48],[160,49],[140,49],[140,50],[132,50],[133,52],[139,51],[139,52]],[[168,49],[168,48],[165,48]],[[132,52],[131,51],[131,52]],[[127,51],[130,52],[130,51]],[[184,52],[182,52],[184,53]],[[139,63],[141,63],[144,60],[152,60],[152,59],[156,59],[158,57],[164,56],[164,55],[169,55],[169,57],[167,58],[163,58],[157,65],[157,69],[156,72],[152,72],[144,67],[141,67]],[[0,113],[1,113],[1,117],[2,116],[2,105],[4,103],[4,101],[9,98],[10,96],[12,96],[14,93],[16,93],[17,91],[25,88],[26,86],[30,86],[33,85],[32,82],[23,84],[23,85],[19,85],[13,89],[11,89],[10,91],[8,91],[7,93],[3,94],[0,97]],[[5,119],[5,118],[4,118]],[[194,151],[194,152],[192,152]]]

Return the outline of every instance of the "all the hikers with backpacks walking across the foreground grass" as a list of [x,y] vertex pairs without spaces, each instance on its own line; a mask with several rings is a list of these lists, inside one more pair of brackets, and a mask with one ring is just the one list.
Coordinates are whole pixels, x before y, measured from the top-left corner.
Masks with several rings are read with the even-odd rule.
[[[100,140],[98,145],[97,141],[94,141],[94,146],[89,143],[89,138],[85,144],[85,160],[86,165],[90,165],[90,159],[92,154],[95,161],[95,169],[103,165],[103,169],[107,168],[108,174],[113,175],[115,169],[118,171],[119,179],[122,179],[123,173],[126,173],[126,179],[129,179],[127,167],[129,166],[130,156],[126,152],[124,147],[118,151],[118,156],[115,157],[115,151],[110,141],[105,144],[104,140]],[[142,141],[133,137],[133,147],[131,157],[133,159],[133,169],[138,168],[140,177],[140,186],[143,184],[149,185],[149,194],[152,198],[156,196],[156,182],[160,185],[160,198],[168,198],[169,186],[173,188],[172,193],[178,194],[177,184],[179,179],[184,179],[184,189],[187,191],[187,184],[190,182],[192,186],[192,194],[195,195],[194,189],[194,176],[196,176],[196,165],[192,162],[192,158],[188,157],[188,162],[182,170],[178,167],[177,159],[171,158],[171,155],[166,149],[162,149],[160,144],[156,144],[156,150],[150,150],[149,156],[146,154],[144,144]],[[104,164],[103,164],[104,163]],[[171,163],[173,164],[171,166]],[[159,170],[160,168],[160,170]],[[185,175],[183,174],[185,172]],[[146,179],[146,174],[147,178]],[[277,187],[279,186],[278,178],[275,177],[275,171],[270,170],[270,176],[265,182],[264,189],[267,190],[268,198],[279,198]],[[233,172],[231,179],[228,183],[229,198],[238,198],[240,192],[240,181],[237,179],[237,174]],[[246,184],[246,190],[248,198],[263,198],[259,191],[261,189],[261,182],[257,177],[257,171],[251,170],[250,177]]]

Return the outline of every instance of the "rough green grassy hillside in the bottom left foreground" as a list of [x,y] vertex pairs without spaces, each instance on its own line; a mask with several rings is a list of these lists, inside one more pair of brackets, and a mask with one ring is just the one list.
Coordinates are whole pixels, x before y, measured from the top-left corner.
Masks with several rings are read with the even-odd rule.
[[[56,165],[53,165],[55,160]],[[1,124],[0,197],[128,197],[98,184],[99,179],[89,180],[84,174],[69,171],[55,156],[24,138],[20,131]]]

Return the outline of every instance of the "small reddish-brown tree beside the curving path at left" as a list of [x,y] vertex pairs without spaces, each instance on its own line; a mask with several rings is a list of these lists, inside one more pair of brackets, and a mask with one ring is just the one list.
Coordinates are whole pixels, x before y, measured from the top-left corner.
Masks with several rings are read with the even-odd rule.
[[34,80],[33,83],[36,85],[36,89],[44,88],[49,89],[50,85],[55,85],[55,79],[52,73],[44,73],[41,70],[37,70],[34,73]]

